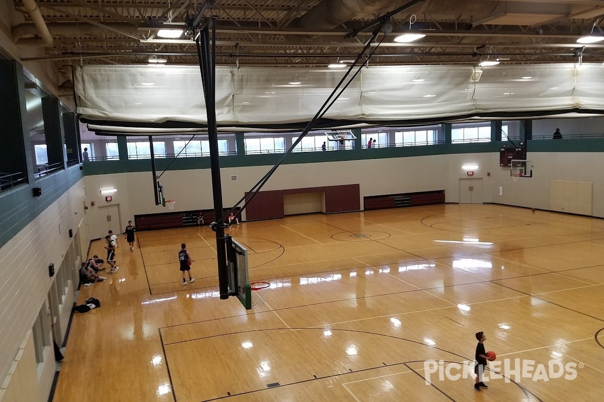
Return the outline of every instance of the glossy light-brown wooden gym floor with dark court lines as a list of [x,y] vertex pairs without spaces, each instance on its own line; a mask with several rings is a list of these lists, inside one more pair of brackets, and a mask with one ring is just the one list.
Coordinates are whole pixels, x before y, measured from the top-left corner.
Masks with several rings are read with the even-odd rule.
[[[596,401],[604,394],[604,221],[441,205],[244,222],[260,307],[217,292],[208,227],[120,237],[83,287],[54,401]],[[177,253],[187,243],[193,284]],[[95,242],[91,252],[103,253]],[[103,253],[104,254],[104,253]],[[107,272],[107,271],[104,271]],[[424,378],[425,360],[576,363],[574,380]],[[501,366],[503,369],[503,365]],[[455,371],[452,371],[455,374]],[[512,379],[516,379],[512,376]],[[275,385],[278,386],[269,386]]]

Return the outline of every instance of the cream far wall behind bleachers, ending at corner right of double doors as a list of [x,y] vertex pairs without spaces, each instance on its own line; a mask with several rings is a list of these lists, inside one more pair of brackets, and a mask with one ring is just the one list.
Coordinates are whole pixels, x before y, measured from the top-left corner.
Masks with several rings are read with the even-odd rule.
[[[461,166],[470,164],[480,165],[473,177],[484,177],[484,200],[490,202],[494,184],[492,178],[486,177],[486,172],[499,169],[498,158],[499,154],[486,153],[281,165],[263,190],[359,183],[361,205],[362,198],[369,195],[443,189],[446,190],[446,201],[457,203],[459,179],[467,177]],[[270,166],[221,169],[224,206],[233,206],[269,169]],[[231,182],[231,175],[237,175],[238,180]],[[165,197],[176,199],[175,210],[213,208],[209,169],[167,171],[160,181]],[[126,227],[127,221],[133,220],[134,215],[167,212],[167,207],[155,206],[150,172],[86,176],[85,182],[93,239],[104,237],[107,231],[106,217],[99,206],[120,204],[122,228]],[[112,188],[118,191],[112,194],[111,203],[106,203],[100,190]],[[94,207],[91,201],[94,201]]]

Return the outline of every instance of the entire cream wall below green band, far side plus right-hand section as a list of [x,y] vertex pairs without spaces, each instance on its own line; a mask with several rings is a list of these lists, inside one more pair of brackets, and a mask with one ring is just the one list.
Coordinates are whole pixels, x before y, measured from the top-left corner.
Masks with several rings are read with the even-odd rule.
[[[446,202],[458,203],[459,179],[469,177],[461,166],[478,165],[472,178],[483,179],[485,203],[548,209],[550,180],[585,181],[594,183],[594,216],[604,217],[604,178],[600,176],[604,171],[602,154],[529,152],[527,157],[535,166],[534,177],[520,178],[517,183],[510,177],[510,168],[499,166],[499,153],[489,152],[281,165],[263,190],[359,183],[361,205],[364,196],[440,189],[445,190]],[[223,168],[224,206],[230,207],[239,201],[269,168]],[[237,175],[238,181],[231,182],[230,175]],[[98,206],[105,204],[101,189],[118,189],[112,203],[120,204],[122,228],[129,219],[133,220],[134,215],[167,211],[167,208],[155,206],[150,172],[86,176],[85,181],[87,205],[89,201],[96,203],[88,211],[92,238],[106,234],[106,218],[98,211]],[[176,199],[177,211],[213,207],[209,169],[168,171],[161,183],[166,198]],[[504,187],[503,196],[499,195],[499,186]],[[245,219],[245,213],[243,216]],[[94,232],[95,225],[103,229],[98,234]]]

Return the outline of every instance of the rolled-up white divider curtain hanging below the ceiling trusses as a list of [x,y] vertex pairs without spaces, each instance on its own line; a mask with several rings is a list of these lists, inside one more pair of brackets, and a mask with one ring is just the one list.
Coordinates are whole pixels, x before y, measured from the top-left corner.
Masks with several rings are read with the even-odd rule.
[[[387,124],[487,113],[604,111],[602,64],[500,64],[475,69],[370,66],[324,117],[349,124]],[[343,74],[326,68],[219,66],[217,122],[246,127],[309,121]],[[77,111],[86,119],[196,124],[207,120],[196,66],[83,66],[76,69],[75,85]]]

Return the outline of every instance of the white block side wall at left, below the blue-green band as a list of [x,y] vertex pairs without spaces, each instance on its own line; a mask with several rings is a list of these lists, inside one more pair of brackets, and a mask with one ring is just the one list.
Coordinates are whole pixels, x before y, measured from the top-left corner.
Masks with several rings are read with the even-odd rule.
[[[81,219],[86,220],[83,200],[82,179],[0,248],[0,383],[4,382],[26,334],[46,303],[54,280],[48,276],[49,263],[54,263],[57,275],[72,241],[68,230],[71,228],[75,234]],[[73,289],[69,292],[72,293]],[[61,312],[62,322],[66,322],[71,310],[72,297],[67,297],[63,304],[66,310]],[[39,386],[41,400],[48,399],[54,375],[51,352],[52,349],[43,366],[36,368],[37,372],[28,374],[31,386]]]

